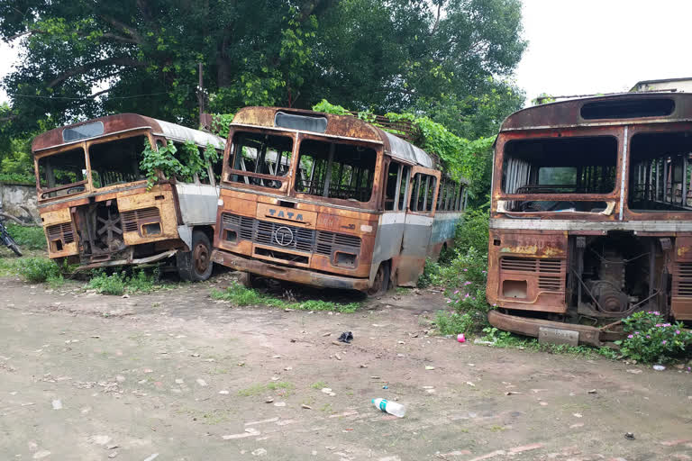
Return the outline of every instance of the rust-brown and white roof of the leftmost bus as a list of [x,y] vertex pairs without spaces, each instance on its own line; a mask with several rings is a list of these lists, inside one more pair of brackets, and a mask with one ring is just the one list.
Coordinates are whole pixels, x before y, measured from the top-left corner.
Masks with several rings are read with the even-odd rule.
[[36,153],[45,149],[75,144],[83,140],[93,140],[115,133],[141,129],[150,129],[153,134],[163,136],[168,140],[180,142],[191,140],[198,146],[212,144],[216,148],[223,149],[225,144],[223,138],[205,131],[193,130],[137,113],[117,113],[46,131],[34,138],[32,151]]

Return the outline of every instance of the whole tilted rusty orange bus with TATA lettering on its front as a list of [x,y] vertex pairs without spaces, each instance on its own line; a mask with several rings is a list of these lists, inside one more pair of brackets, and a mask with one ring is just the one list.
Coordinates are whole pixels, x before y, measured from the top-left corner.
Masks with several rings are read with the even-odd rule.
[[233,118],[216,263],[379,294],[415,284],[451,245],[465,184],[431,156],[351,116],[248,107]]

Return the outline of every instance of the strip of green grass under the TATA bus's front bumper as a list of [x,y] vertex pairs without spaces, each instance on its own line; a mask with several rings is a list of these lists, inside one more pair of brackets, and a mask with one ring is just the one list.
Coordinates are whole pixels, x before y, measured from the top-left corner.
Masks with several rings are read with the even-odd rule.
[[296,309],[299,311],[334,311],[343,313],[356,312],[360,307],[360,303],[341,304],[322,300],[287,302],[269,294],[259,293],[259,291],[253,288],[246,288],[245,286],[235,283],[223,291],[214,289],[211,296],[216,300],[228,301],[237,307],[261,304],[282,309]]

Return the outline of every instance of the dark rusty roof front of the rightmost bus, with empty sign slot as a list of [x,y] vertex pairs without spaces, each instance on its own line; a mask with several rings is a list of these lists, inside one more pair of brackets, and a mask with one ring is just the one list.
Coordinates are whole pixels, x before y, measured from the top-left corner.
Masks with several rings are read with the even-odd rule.
[[511,114],[502,131],[692,121],[692,93],[624,93],[571,99]]

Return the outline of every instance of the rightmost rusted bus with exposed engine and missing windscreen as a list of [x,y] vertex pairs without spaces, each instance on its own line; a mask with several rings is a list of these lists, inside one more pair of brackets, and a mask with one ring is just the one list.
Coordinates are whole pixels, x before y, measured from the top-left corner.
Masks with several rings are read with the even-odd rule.
[[510,115],[495,147],[489,321],[598,345],[639,310],[692,320],[691,155],[692,95]]

